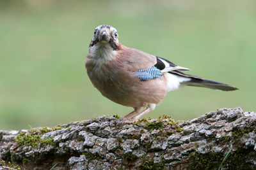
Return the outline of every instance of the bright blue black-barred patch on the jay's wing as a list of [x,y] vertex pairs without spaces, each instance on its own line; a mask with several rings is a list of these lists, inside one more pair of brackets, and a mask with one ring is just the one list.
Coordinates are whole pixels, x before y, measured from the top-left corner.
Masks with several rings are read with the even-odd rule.
[[140,69],[133,74],[138,76],[138,78],[143,81],[159,78],[163,75],[163,73],[161,73],[161,70],[157,69],[157,67],[155,66],[152,66],[149,69]]

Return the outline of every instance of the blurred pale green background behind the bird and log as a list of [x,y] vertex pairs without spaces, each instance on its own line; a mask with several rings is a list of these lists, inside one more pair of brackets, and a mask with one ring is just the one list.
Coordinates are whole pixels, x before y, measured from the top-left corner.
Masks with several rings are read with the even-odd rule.
[[132,111],[93,88],[84,60],[95,27],[122,44],[238,87],[185,87],[145,117],[188,120],[218,108],[256,111],[256,1],[0,1],[0,129]]

